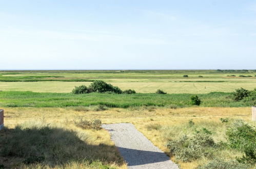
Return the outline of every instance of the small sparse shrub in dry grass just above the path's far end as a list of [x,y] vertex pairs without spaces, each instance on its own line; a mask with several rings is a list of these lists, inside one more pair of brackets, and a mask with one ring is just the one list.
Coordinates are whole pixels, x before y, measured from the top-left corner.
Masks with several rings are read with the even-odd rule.
[[101,130],[102,121],[99,119],[83,119],[74,120],[74,124],[82,129],[94,129],[94,130]]

